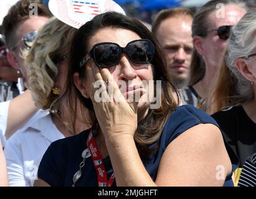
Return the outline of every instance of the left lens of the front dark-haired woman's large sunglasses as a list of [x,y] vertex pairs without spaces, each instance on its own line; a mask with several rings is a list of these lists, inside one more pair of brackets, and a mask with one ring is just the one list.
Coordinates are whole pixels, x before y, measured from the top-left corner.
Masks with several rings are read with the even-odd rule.
[[120,58],[121,49],[115,44],[100,44],[95,46],[94,60],[100,68],[107,68],[115,65]]

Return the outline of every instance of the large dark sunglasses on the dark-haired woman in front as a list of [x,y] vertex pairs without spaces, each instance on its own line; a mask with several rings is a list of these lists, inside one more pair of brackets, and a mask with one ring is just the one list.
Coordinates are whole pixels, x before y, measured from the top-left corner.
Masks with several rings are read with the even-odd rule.
[[154,57],[154,44],[147,39],[133,40],[124,48],[111,42],[95,44],[92,50],[83,57],[80,62],[80,68],[83,67],[90,58],[93,58],[97,67],[112,67],[120,61],[122,53],[126,53],[134,63],[150,63]]

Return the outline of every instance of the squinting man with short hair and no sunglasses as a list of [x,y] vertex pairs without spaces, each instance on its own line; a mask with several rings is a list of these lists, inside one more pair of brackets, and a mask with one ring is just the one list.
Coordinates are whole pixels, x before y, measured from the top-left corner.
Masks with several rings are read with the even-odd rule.
[[164,49],[169,76],[179,88],[188,83],[192,18],[192,13],[183,7],[165,9],[157,14],[152,25],[152,32]]

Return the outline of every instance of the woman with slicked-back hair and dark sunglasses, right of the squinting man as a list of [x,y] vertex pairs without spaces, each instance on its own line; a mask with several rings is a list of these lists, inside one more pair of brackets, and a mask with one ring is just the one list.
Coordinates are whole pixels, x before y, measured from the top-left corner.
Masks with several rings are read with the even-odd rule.
[[183,104],[193,104],[206,109],[212,81],[227,45],[230,27],[247,11],[239,0],[212,0],[204,4],[194,15],[192,37],[194,52],[191,58],[190,81],[181,90]]

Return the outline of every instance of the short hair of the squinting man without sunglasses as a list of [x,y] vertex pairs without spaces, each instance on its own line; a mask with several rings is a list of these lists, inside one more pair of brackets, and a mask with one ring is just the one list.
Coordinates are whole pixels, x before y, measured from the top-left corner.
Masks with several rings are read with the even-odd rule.
[[174,9],[164,9],[158,14],[156,14],[156,17],[154,17],[154,21],[152,23],[152,32],[154,35],[156,35],[156,31],[159,28],[159,25],[162,21],[171,18],[171,17],[177,17],[177,16],[187,16],[191,17],[193,19],[193,13],[184,7],[176,7]]

